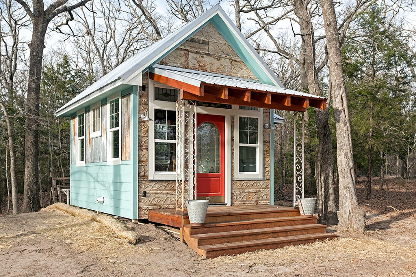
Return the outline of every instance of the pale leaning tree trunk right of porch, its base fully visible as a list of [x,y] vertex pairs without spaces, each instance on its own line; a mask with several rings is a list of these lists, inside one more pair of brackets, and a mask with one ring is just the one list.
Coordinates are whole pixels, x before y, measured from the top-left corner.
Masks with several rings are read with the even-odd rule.
[[334,2],[333,0],[321,0],[321,7],[331,66],[329,78],[332,84],[332,105],[337,130],[339,228],[362,232],[365,229],[365,212],[358,205],[355,189],[351,128]]

